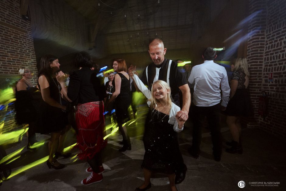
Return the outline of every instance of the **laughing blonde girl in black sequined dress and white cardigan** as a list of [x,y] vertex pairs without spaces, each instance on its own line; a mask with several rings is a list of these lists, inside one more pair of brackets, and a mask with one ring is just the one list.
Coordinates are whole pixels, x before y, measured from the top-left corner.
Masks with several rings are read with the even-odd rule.
[[181,157],[177,133],[183,130],[185,123],[176,115],[180,107],[172,102],[171,88],[165,81],[155,81],[150,91],[137,75],[134,74],[132,78],[139,90],[148,98],[150,108],[143,137],[145,154],[141,167],[144,172],[144,183],[136,190],[151,188],[150,178],[154,171],[167,174],[171,190],[176,191],[175,172],[180,166],[177,159]]

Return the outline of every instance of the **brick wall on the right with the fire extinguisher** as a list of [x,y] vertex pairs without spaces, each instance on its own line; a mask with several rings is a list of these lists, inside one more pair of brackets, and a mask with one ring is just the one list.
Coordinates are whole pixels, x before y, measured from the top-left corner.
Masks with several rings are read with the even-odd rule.
[[[249,14],[260,11],[249,21],[247,59],[251,75],[249,88],[254,118],[259,127],[281,138],[286,137],[286,3],[284,0],[250,0]],[[274,74],[268,82],[268,73]],[[269,95],[269,114],[258,115],[258,97]]]

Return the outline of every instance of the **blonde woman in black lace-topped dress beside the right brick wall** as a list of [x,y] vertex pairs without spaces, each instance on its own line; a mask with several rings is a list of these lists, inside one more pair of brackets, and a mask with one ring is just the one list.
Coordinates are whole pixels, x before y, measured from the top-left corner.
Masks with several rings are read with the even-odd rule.
[[230,95],[226,112],[226,122],[232,134],[232,142],[226,144],[232,146],[227,148],[228,153],[242,153],[241,146],[241,116],[250,115],[250,96],[247,89],[249,83],[249,72],[246,58],[236,58],[231,65],[232,73],[230,81]]

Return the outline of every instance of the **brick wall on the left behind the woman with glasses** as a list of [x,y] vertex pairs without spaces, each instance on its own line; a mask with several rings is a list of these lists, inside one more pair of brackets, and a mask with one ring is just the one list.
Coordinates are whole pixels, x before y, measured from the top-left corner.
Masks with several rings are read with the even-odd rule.
[[[33,83],[37,81],[36,57],[30,21],[22,19],[20,0],[1,0],[0,3],[0,76],[19,76],[19,68],[27,66],[35,72]],[[19,79],[22,76],[19,76]],[[11,83],[11,82],[10,82]],[[7,83],[7,86],[9,84]],[[2,87],[3,88],[3,87]],[[13,110],[13,104],[9,111]],[[19,128],[15,124],[14,112],[7,114],[3,132]],[[2,133],[3,133],[2,132]]]

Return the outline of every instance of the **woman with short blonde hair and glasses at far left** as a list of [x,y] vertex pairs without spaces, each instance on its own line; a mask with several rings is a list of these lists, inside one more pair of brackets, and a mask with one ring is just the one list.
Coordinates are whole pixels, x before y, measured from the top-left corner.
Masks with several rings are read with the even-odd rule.
[[18,124],[29,124],[27,149],[31,149],[31,146],[37,142],[36,125],[33,116],[34,108],[31,104],[31,93],[35,90],[35,86],[31,82],[33,71],[28,67],[21,67],[19,74],[22,78],[16,84],[16,119]]

